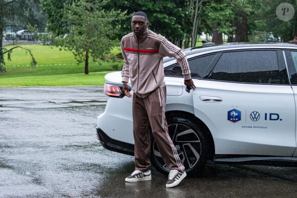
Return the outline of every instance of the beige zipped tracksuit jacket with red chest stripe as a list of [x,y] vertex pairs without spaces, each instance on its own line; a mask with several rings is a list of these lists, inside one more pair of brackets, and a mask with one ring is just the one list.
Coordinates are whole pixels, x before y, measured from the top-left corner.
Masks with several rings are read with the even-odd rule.
[[184,79],[190,79],[190,70],[184,52],[165,37],[147,30],[139,39],[133,32],[122,37],[124,65],[122,81],[129,78],[134,94],[146,97],[164,82],[163,57],[175,57],[181,65]]

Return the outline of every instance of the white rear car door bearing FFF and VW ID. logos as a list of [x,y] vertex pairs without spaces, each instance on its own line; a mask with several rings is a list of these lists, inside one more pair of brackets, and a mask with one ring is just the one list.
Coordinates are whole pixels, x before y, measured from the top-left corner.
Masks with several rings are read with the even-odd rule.
[[194,81],[195,115],[216,154],[293,155],[295,102],[282,50],[217,53]]

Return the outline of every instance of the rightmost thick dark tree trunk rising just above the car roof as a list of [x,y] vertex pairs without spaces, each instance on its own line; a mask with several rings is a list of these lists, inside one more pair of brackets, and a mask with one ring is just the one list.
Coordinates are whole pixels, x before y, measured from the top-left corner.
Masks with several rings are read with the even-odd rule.
[[238,12],[238,18],[241,18],[242,21],[237,24],[236,29],[236,42],[246,42],[247,38],[247,14],[245,12]]

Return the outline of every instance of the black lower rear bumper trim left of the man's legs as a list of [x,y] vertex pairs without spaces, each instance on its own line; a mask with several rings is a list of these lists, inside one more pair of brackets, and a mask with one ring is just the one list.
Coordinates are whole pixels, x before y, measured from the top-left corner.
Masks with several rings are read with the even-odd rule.
[[120,142],[110,138],[107,134],[103,132],[99,127],[96,126],[97,139],[100,141],[101,145],[108,150],[120,152],[126,155],[134,156],[134,145]]

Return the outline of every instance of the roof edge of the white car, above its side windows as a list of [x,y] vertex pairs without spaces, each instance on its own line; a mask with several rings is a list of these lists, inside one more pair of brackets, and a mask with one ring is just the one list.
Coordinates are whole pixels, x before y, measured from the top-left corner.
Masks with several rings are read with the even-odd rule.
[[[213,45],[213,46],[207,46],[207,47],[195,47],[195,48],[186,48],[184,49],[184,53],[189,56],[192,54],[197,54],[201,52],[207,52],[207,51],[216,51],[216,50],[223,50],[223,49],[234,49],[234,48],[297,48],[297,43],[287,43],[287,42],[265,42],[265,43],[249,43],[249,42],[229,42],[224,43],[222,45]],[[175,58],[169,58],[165,57],[163,62],[168,62],[171,60],[174,60]]]

